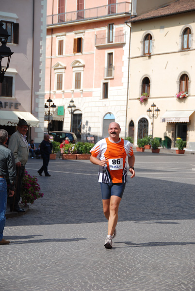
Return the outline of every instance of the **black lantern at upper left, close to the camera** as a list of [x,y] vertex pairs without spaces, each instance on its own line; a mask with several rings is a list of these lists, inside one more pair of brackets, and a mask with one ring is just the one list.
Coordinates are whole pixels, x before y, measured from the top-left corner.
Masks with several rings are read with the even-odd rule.
[[[4,79],[5,72],[9,68],[11,55],[13,55],[11,49],[6,46],[9,36],[10,34],[3,28],[3,23],[0,21],[0,83]],[[2,65],[2,59],[5,57],[7,57],[7,62],[4,62],[4,65]]]

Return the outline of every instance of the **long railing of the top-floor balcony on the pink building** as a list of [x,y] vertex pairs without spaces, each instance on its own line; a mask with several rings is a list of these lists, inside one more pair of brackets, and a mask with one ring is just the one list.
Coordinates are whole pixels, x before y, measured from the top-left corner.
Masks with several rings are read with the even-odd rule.
[[53,14],[47,16],[47,25],[65,24],[112,15],[130,14],[131,3],[121,2],[78,11]]

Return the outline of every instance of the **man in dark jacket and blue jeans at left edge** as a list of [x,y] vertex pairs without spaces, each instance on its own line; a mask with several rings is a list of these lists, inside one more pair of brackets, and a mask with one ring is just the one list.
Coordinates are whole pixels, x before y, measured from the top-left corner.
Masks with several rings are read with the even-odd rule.
[[5,176],[9,174],[9,197],[14,195],[16,185],[16,163],[13,153],[5,146],[7,139],[7,131],[0,129],[0,244],[10,243],[10,241],[3,239],[5,212],[7,208],[7,182]]

